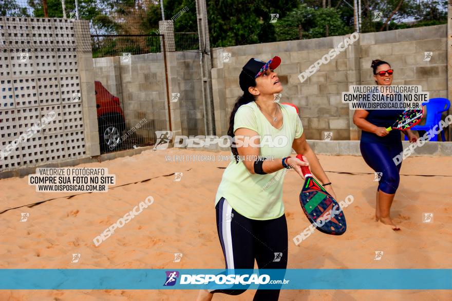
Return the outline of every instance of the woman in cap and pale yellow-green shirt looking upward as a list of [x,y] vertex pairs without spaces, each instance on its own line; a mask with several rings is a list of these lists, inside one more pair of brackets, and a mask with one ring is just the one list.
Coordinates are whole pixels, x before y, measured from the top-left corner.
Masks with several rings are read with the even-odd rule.
[[[301,166],[314,175],[335,198],[328,176],[306,142],[296,109],[274,101],[283,91],[274,69],[281,59],[265,63],[252,58],[239,76],[243,95],[231,113],[228,135],[234,138],[233,159],[225,169],[215,198],[218,236],[227,269],[286,269],[288,234],[283,204],[283,179]],[[291,157],[292,148],[303,154]],[[201,290],[198,300],[213,293],[238,295],[241,290]],[[277,300],[278,290],[257,290],[254,300]]]

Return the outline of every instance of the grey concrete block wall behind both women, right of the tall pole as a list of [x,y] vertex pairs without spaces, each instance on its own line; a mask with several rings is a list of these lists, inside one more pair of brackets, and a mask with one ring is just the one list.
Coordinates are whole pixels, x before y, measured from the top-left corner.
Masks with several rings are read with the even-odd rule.
[[[352,123],[353,111],[341,102],[341,92],[350,85],[373,85],[370,62],[379,58],[393,67],[394,84],[422,85],[430,97],[447,97],[446,25],[394,30],[360,35],[352,47],[337,55],[305,82],[298,74],[309,68],[347,36],[300,41],[265,43],[213,49],[212,88],[217,135],[229,127],[229,114],[243,92],[238,85],[241,68],[251,57],[268,61],[281,57],[276,69],[284,91],[280,102],[300,109],[308,139],[323,139],[332,132],[333,140],[359,139]],[[432,51],[424,61],[424,52]]]

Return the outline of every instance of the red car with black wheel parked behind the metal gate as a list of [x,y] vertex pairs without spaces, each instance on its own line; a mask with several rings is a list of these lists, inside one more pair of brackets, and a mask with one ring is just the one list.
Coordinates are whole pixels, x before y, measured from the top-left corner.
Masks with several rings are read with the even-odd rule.
[[94,82],[96,90],[96,107],[99,123],[99,143],[101,152],[115,150],[109,146],[119,142],[125,130],[124,112],[119,98],[112,95],[99,81]]

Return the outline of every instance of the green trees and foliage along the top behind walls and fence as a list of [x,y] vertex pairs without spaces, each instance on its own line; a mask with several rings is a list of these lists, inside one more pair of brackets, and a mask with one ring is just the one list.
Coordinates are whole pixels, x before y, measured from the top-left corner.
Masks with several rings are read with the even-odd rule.
[[[205,1],[211,47],[324,37],[327,27],[328,36],[354,31],[353,9],[343,0],[325,1],[331,4],[330,8],[323,8],[323,0]],[[27,9],[23,7],[25,2],[31,8],[32,16],[44,17],[42,0],[0,0],[0,15],[27,16]],[[348,3],[353,4],[352,1]],[[446,0],[404,0],[388,20],[400,3],[401,0],[362,0],[361,32],[447,23]],[[63,17],[61,0],[47,0],[47,5],[49,17]],[[74,0],[66,0],[65,5],[69,17],[75,11]],[[181,10],[186,11],[174,18],[175,32],[197,33],[195,1],[164,0],[165,19],[171,19]],[[376,11],[382,12],[382,19],[372,22],[372,12]],[[279,14],[276,23],[270,23],[271,14]],[[158,32],[162,19],[158,0],[79,0],[79,15],[90,20],[94,34],[153,34]],[[383,26],[386,22],[388,26]],[[194,35],[180,35],[176,44],[193,49],[197,47],[194,38]],[[121,48],[119,44],[108,43],[105,45],[107,52]],[[155,49],[143,43],[140,42],[139,51]]]

